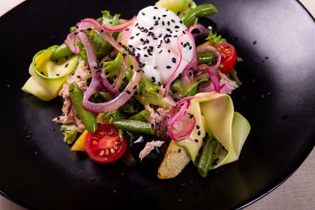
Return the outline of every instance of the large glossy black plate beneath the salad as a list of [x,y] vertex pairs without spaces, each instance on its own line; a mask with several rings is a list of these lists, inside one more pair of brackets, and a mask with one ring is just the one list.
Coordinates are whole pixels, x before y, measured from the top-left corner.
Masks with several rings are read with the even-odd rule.
[[127,19],[153,3],[29,0],[0,19],[3,194],[38,209],[241,208],[303,162],[315,143],[315,24],[293,0],[211,1],[220,11],[211,17],[218,33],[244,60],[237,65],[243,85],[232,98],[252,131],[239,161],[207,178],[189,164],[178,177],[160,180],[156,168],[100,165],[69,151],[59,125],[51,122],[61,114],[60,98],[44,102],[21,90],[32,56],[62,43],[69,26],[98,18],[101,10]]

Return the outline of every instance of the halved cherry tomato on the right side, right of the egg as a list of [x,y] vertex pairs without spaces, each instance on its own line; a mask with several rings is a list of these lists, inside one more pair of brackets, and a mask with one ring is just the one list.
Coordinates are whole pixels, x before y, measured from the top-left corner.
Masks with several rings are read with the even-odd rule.
[[217,50],[221,52],[221,63],[218,69],[223,73],[227,74],[230,72],[236,62],[237,62],[237,53],[233,45],[224,42],[214,46]]

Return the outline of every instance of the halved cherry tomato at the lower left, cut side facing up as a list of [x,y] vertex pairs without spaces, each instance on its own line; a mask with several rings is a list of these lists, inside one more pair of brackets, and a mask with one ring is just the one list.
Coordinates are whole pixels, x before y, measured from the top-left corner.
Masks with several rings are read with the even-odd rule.
[[124,154],[127,148],[127,139],[121,141],[119,131],[111,124],[98,125],[94,133],[88,133],[84,147],[92,160],[98,163],[111,163]]

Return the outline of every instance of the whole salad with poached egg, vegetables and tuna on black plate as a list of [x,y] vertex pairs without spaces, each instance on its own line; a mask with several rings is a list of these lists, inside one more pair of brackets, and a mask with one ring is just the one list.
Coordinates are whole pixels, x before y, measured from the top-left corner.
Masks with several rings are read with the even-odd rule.
[[64,43],[36,53],[22,90],[63,100],[63,141],[100,164],[157,165],[176,177],[239,159],[249,122],[229,94],[242,59],[216,34],[218,10],[160,0],[129,20],[102,11],[70,27]]

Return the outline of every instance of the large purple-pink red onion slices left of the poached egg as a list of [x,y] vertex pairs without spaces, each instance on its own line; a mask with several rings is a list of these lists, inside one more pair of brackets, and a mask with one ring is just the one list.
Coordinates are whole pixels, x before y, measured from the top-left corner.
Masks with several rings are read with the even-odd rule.
[[[116,40],[109,34],[109,32],[118,32],[126,29],[132,22],[135,20],[135,18],[126,21],[118,26],[103,26],[99,21],[95,19],[84,19],[81,21],[77,29],[74,33],[71,33],[68,35],[66,39],[66,43],[69,46],[69,49],[71,49],[76,52],[77,47],[74,47],[74,44],[77,43],[77,41],[82,41],[88,57],[89,66],[92,73],[92,80],[91,83],[84,93],[84,99],[83,99],[83,106],[85,109],[96,112],[96,113],[103,113],[103,112],[110,112],[117,110],[119,107],[121,107],[124,103],[126,103],[130,97],[135,93],[137,87],[140,84],[141,78],[142,78],[142,71],[141,69],[134,69],[133,75],[131,78],[131,81],[126,86],[126,88],[120,93],[116,88],[113,87],[113,85],[108,81],[105,73],[101,71],[97,65],[97,58],[94,46],[92,42],[90,41],[88,35],[84,32],[84,29],[93,29],[97,31],[104,40],[108,41],[114,48],[116,48],[118,51],[122,50],[122,47],[116,42]],[[132,59],[133,66],[139,66],[138,62],[135,58]],[[118,95],[114,99],[103,102],[103,103],[95,103],[92,101],[89,101],[89,98],[98,90],[102,88],[103,85],[112,93]]]

